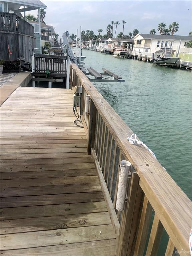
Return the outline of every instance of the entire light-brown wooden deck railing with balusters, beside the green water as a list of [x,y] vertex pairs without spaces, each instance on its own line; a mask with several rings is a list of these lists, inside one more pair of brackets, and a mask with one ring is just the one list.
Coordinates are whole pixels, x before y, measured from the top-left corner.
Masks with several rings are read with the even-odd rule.
[[[91,153],[95,159],[118,239],[116,255],[141,256],[145,248],[146,256],[157,255],[164,229],[169,236],[164,245],[167,248],[164,255],[171,256],[175,251],[180,255],[190,255],[190,199],[147,149],[127,141],[127,136],[133,133],[131,129],[75,64],[71,64],[70,74],[70,88],[82,86],[80,111],[88,136],[88,154]],[[90,95],[89,113],[84,112],[86,95]],[[131,162],[132,174],[124,210],[117,212],[115,205],[121,160]]]

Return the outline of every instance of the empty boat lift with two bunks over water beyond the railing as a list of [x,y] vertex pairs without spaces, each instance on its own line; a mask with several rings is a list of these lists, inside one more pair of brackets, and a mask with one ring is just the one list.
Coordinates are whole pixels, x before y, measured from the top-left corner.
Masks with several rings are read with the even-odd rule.
[[[98,73],[93,68],[87,68],[87,70],[88,70],[88,72],[84,71],[83,73],[87,76],[87,78],[91,82],[119,82],[119,83],[125,82],[125,80],[123,80],[122,77],[114,74],[113,72],[107,70],[106,68],[102,68],[104,73]],[[94,76],[95,78],[93,79],[88,76]]]

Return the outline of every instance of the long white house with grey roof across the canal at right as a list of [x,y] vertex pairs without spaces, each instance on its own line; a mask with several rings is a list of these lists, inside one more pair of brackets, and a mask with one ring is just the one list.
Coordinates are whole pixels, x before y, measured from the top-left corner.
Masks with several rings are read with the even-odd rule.
[[186,47],[187,42],[192,40],[192,36],[137,34],[133,40],[133,52],[152,56],[161,48],[172,48],[177,52],[179,46],[180,48]]

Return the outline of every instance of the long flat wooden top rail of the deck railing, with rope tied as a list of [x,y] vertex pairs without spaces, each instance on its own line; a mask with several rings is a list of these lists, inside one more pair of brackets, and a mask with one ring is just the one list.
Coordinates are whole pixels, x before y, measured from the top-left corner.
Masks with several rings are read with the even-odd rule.
[[140,177],[140,186],[157,213],[177,250],[189,250],[192,202],[143,146],[131,145],[127,137],[132,130],[102,97],[86,75],[71,64],[87,93],[91,96],[97,111],[107,125],[120,150],[129,159]]

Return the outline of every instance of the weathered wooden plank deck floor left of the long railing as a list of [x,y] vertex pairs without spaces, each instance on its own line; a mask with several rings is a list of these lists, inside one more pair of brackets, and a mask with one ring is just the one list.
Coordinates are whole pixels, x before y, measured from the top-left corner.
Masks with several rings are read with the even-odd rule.
[[115,256],[116,236],[67,89],[1,106],[1,255]]

